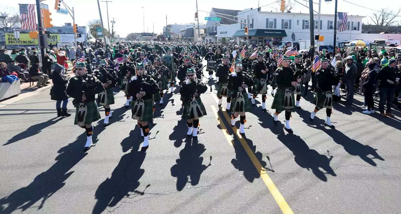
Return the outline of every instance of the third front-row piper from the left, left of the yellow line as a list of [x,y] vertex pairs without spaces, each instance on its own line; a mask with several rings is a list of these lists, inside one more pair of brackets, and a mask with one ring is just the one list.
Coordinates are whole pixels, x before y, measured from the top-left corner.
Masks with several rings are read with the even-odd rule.
[[198,136],[199,118],[207,115],[200,95],[207,91],[207,85],[198,81],[193,68],[187,69],[187,78],[180,85],[180,94],[184,98],[184,112],[182,117],[186,119],[188,126],[187,135]]

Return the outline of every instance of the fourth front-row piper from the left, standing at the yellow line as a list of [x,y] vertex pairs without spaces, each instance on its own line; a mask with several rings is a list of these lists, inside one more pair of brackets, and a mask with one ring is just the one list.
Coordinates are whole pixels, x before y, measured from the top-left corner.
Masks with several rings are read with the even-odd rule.
[[244,125],[246,122],[245,112],[251,112],[251,104],[247,99],[247,92],[245,88],[248,85],[253,85],[252,78],[243,73],[241,61],[238,59],[234,61],[235,71],[229,74],[228,89],[232,93],[231,99],[231,127],[235,126],[235,118],[239,116],[241,125],[239,126],[239,133],[244,134]]

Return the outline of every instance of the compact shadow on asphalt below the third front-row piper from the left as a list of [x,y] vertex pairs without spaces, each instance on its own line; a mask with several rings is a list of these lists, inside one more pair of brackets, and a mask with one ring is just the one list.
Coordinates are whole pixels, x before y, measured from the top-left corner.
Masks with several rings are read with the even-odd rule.
[[177,178],[178,191],[184,189],[186,183],[196,186],[203,171],[211,166],[212,156],[210,156],[209,165],[203,164],[201,155],[205,151],[205,145],[199,143],[196,138],[193,138],[192,141],[191,138],[186,139],[185,146],[180,151],[180,158],[176,159],[176,164],[171,167],[171,176]]

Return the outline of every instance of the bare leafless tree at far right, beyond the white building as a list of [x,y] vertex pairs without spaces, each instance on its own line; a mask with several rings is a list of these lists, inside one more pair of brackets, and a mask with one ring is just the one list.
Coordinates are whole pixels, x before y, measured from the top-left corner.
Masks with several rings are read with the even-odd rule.
[[385,32],[389,29],[389,26],[398,23],[396,18],[400,12],[401,8],[395,11],[389,8],[383,8],[380,12],[375,12],[372,16],[369,16],[373,23],[368,22],[368,24],[376,25],[376,30],[379,30],[379,32]]

